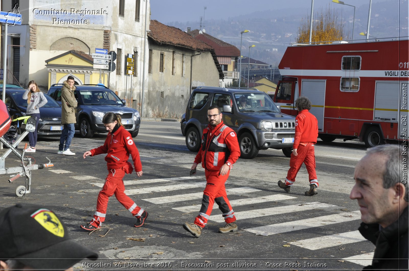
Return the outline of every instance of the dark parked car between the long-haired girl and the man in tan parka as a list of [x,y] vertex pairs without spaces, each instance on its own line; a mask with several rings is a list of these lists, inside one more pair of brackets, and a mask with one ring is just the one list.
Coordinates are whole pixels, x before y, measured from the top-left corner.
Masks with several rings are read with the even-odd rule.
[[[0,95],[3,95],[0,85]],[[27,100],[22,98],[25,89],[17,85],[6,85],[6,97],[4,103],[9,109],[11,119],[26,116]],[[61,136],[61,105],[53,98],[44,93],[47,103],[40,107],[40,120],[38,122],[38,136]]]

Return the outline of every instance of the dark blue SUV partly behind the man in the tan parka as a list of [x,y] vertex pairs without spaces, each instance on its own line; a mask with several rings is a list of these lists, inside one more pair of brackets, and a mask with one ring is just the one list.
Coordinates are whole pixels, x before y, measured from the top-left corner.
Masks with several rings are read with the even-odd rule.
[[[61,87],[63,84],[53,84],[48,95],[61,104]],[[75,127],[83,138],[92,138],[94,133],[106,133],[102,117],[107,112],[121,115],[122,124],[132,137],[138,135],[141,116],[136,109],[126,107],[112,90],[103,85],[76,85],[74,96],[78,101],[75,109],[77,123]]]

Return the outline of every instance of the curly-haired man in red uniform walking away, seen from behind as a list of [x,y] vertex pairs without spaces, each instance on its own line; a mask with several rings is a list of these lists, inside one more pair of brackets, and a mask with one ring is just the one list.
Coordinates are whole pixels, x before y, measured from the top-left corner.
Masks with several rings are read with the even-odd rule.
[[278,185],[285,192],[290,192],[295,177],[304,163],[308,171],[310,180],[310,190],[306,191],[306,196],[318,194],[318,180],[315,172],[314,145],[318,137],[318,121],[308,110],[311,109],[311,102],[306,97],[300,97],[295,101],[298,115],[295,118],[294,144],[290,158],[290,169],[288,170],[285,182],[279,180]]

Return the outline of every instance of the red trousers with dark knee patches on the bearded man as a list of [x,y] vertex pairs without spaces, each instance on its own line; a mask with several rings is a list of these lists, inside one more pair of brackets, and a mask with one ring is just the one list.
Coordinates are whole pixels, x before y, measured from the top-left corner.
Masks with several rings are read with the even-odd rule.
[[207,220],[209,220],[209,216],[213,210],[214,202],[217,203],[220,211],[222,211],[226,223],[236,221],[225,188],[225,182],[227,178],[229,178],[229,173],[230,171],[223,176],[219,175],[219,171],[205,170],[206,188],[203,191],[202,207],[194,222],[199,227],[204,228],[206,226]]

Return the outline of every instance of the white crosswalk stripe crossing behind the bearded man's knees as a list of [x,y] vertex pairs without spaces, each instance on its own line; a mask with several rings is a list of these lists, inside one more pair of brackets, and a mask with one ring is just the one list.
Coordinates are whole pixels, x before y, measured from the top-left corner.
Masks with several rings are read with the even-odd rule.
[[[245,194],[245,193],[251,193],[251,192],[256,192],[256,191],[261,191],[260,189],[255,189],[251,187],[238,187],[238,188],[229,188],[226,189],[226,192],[228,194]],[[189,193],[189,194],[180,194],[180,195],[171,195],[171,196],[164,196],[164,197],[158,197],[158,198],[144,198],[142,200],[146,200],[148,202],[152,202],[154,204],[163,204],[163,203],[168,203],[168,202],[179,202],[179,201],[185,201],[185,200],[197,200],[201,199],[203,196],[203,192],[198,192],[198,193]],[[201,203],[198,202],[199,204]],[[190,206],[189,206],[190,207]],[[183,208],[183,207],[181,207]],[[191,208],[194,208],[196,211],[197,210],[197,205],[193,205]],[[175,210],[178,210],[177,208],[173,208]],[[182,210],[179,210],[182,211]],[[182,211],[183,212],[183,211]],[[190,211],[186,211],[188,213]]]

